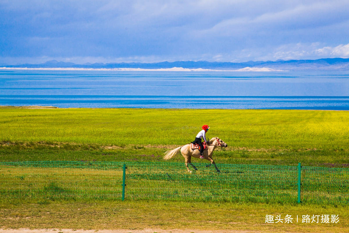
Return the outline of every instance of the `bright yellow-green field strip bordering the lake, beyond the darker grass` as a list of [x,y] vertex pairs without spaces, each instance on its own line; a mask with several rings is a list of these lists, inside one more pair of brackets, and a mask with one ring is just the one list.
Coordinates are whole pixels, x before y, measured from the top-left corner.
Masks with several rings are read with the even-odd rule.
[[348,145],[347,111],[2,108],[3,141],[125,146],[181,145],[202,124],[233,148],[337,149]]

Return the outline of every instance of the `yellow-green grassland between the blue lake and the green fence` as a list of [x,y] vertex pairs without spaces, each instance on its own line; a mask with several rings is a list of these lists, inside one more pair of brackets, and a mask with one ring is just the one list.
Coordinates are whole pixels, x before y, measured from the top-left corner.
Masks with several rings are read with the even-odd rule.
[[161,161],[203,124],[217,163],[349,166],[349,112],[302,110],[0,108],[0,161]]

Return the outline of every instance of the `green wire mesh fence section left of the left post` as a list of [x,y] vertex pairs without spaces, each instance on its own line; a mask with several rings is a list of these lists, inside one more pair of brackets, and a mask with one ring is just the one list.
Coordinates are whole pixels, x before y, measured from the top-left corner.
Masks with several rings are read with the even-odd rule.
[[123,163],[3,162],[0,194],[29,198],[121,198]]

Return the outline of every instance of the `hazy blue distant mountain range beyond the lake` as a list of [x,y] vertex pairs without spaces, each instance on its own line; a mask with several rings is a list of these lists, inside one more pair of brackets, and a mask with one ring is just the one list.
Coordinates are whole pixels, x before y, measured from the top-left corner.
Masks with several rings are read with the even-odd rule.
[[237,70],[245,67],[272,68],[275,70],[305,71],[305,70],[340,70],[349,71],[349,58],[323,58],[317,60],[277,60],[277,61],[247,61],[247,62],[209,62],[209,61],[174,61],[159,63],[85,63],[75,64],[62,61],[46,61],[41,64],[2,65],[17,68],[142,68],[159,69],[183,67],[189,69],[203,68],[212,70]]

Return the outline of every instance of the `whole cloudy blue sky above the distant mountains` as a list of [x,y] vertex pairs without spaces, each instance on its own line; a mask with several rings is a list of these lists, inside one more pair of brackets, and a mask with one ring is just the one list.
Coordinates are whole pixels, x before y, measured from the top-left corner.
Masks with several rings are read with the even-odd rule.
[[335,57],[348,0],[0,0],[0,64]]

